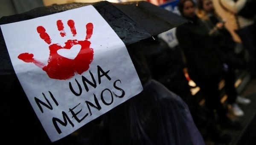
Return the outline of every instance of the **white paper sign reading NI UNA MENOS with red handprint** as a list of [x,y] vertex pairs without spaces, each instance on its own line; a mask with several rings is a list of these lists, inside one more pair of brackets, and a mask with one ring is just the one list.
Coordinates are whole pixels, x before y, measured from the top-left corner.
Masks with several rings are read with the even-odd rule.
[[143,90],[125,45],[93,6],[1,29],[15,73],[52,142]]

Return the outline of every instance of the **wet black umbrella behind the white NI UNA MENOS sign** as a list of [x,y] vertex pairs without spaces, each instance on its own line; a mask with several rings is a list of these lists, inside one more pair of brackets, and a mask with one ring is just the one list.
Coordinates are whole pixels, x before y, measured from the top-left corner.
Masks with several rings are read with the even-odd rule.
[[[145,1],[129,3],[101,1],[98,3],[71,3],[39,7],[22,14],[2,17],[0,25],[29,20],[87,5],[93,5],[96,8],[125,45],[134,44],[145,38],[158,35],[186,22],[179,15]],[[2,30],[0,32],[0,52],[0,75],[14,74]]]

